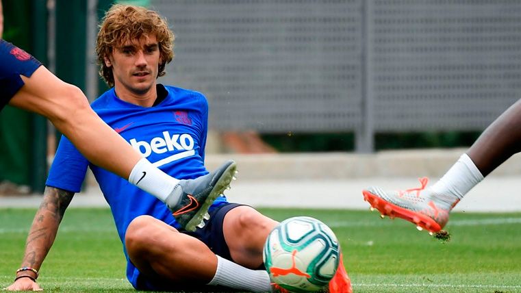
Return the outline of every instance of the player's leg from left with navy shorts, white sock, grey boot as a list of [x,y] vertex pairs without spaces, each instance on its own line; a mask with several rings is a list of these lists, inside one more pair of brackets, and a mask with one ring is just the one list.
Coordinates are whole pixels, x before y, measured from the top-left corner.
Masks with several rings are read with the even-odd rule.
[[236,170],[234,162],[226,162],[215,173],[197,179],[166,175],[118,136],[117,127],[114,131],[103,123],[79,88],[66,84],[36,58],[0,39],[0,110],[5,103],[49,118],[92,164],[157,196],[188,229],[199,224],[205,207],[227,187]]

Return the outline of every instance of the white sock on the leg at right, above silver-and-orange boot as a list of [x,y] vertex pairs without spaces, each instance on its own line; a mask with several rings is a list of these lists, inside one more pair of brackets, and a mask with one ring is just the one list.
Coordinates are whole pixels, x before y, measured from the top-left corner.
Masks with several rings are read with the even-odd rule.
[[452,204],[463,199],[463,196],[481,180],[483,175],[470,157],[463,153],[447,173],[431,186],[430,190],[433,196]]

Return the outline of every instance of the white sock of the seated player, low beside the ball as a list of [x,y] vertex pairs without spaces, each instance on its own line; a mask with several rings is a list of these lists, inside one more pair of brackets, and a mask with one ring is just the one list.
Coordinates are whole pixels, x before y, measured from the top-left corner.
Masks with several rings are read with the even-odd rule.
[[217,257],[217,271],[208,285],[223,285],[251,292],[271,292],[270,276],[266,270],[250,270],[228,259]]

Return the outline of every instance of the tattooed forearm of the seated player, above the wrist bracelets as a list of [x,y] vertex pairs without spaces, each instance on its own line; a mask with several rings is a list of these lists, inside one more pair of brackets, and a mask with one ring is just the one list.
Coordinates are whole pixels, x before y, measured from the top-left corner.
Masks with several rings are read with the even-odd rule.
[[40,268],[53,245],[58,226],[73,196],[74,192],[49,186],[45,188],[42,203],[27,235],[22,266]]

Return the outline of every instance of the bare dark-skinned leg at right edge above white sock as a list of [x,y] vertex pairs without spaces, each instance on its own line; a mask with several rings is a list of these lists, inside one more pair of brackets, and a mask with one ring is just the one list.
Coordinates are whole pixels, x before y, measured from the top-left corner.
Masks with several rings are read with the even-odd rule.
[[503,112],[468,149],[483,177],[521,151],[521,100]]

